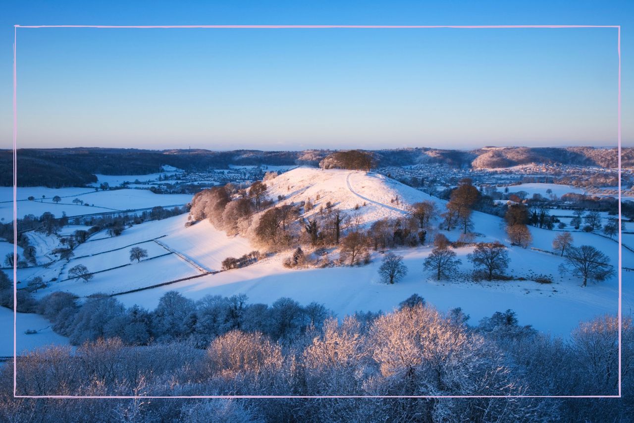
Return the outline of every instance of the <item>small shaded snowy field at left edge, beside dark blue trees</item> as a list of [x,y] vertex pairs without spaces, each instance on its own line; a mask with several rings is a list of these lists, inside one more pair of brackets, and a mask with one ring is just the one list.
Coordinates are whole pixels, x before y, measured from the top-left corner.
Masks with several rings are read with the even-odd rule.
[[[37,330],[27,335],[25,330]],[[18,313],[16,352],[32,351],[49,345],[67,345],[68,338],[51,329],[51,323],[39,314]],[[13,310],[0,307],[0,357],[13,357]]]

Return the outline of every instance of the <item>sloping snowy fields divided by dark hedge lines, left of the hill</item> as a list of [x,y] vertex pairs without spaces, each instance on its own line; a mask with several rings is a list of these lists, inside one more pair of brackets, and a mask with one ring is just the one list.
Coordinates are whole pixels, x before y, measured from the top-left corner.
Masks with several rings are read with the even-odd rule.
[[[18,269],[18,279],[25,283],[36,276],[45,281],[57,278],[48,288],[38,290],[37,297],[53,291],[68,291],[82,297],[96,292],[110,294],[217,271],[224,258],[240,257],[254,250],[247,239],[228,237],[207,221],[190,227],[184,227],[185,222],[187,215],[179,215],[134,225],[120,236],[91,239],[75,248],[75,258],[70,262],[55,262],[48,268]],[[133,246],[146,250],[148,257],[131,264],[129,255]],[[159,257],[162,255],[165,256]],[[68,278],[68,270],[79,264],[85,265],[89,272],[99,273],[88,282],[63,280]]]

